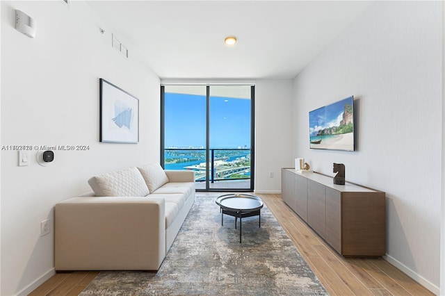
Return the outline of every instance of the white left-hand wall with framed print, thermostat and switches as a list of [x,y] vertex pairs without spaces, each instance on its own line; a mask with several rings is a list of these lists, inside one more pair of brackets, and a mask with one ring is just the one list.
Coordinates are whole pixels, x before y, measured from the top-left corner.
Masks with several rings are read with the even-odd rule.
[[[35,19],[34,39],[15,30],[14,9]],[[1,151],[1,295],[54,272],[54,204],[90,190],[93,174],[159,161],[159,79],[131,44],[129,59],[115,51],[111,32],[84,1],[1,1],[1,145],[90,147],[55,151],[48,167],[35,151],[27,167]],[[140,100],[137,145],[99,143],[99,78]],[[51,233],[40,237],[47,218]]]

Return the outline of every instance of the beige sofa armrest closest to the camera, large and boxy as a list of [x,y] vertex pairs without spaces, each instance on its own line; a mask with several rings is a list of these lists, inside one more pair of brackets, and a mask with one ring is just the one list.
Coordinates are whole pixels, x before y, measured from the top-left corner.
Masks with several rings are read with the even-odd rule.
[[158,270],[165,257],[165,201],[74,197],[56,204],[56,270]]

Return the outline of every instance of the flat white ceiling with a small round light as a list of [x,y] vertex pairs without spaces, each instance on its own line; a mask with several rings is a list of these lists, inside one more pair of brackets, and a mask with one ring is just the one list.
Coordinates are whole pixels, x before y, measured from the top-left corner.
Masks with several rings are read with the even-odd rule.
[[[88,1],[161,79],[290,79],[371,1]],[[105,28],[107,29],[107,28]],[[234,35],[236,45],[224,38]]]

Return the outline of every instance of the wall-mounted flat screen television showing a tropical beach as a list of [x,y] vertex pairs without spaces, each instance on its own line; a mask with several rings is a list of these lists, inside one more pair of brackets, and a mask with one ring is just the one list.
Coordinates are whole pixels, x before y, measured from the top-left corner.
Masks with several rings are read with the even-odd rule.
[[354,151],[354,97],[309,112],[309,145]]

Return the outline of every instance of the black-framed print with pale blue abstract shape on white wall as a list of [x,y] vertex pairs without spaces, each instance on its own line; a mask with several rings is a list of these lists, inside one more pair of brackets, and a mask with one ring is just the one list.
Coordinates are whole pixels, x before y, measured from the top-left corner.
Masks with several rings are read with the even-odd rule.
[[100,142],[139,142],[139,100],[105,79],[100,83]]

